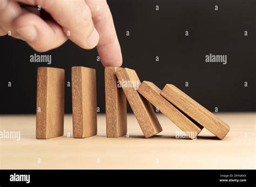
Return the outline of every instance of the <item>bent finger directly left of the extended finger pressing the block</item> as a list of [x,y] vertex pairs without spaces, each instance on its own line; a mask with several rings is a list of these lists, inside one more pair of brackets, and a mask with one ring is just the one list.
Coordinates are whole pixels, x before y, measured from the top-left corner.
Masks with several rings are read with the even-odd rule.
[[50,13],[53,19],[63,27],[68,38],[78,46],[91,49],[96,47],[99,34],[95,29],[91,11],[84,0],[15,0],[18,2],[38,5]]

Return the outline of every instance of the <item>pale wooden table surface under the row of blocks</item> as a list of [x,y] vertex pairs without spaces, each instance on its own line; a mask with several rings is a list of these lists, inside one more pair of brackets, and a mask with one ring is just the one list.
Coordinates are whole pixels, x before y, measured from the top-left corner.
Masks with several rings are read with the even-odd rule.
[[[217,113],[231,127],[224,140],[203,130],[197,140],[176,139],[179,129],[158,114],[163,132],[145,139],[133,114],[129,138],[106,138],[105,115],[98,135],[72,138],[72,116],[64,136],[36,140],[35,115],[0,116],[0,130],[20,131],[21,140],[0,139],[1,169],[255,169],[255,112]],[[71,138],[68,138],[68,133]]]

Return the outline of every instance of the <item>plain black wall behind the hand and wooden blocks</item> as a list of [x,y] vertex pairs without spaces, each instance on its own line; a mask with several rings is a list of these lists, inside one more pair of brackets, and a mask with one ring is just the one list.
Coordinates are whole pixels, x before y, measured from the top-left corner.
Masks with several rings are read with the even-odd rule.
[[[135,69],[141,81],[152,81],[160,88],[175,84],[211,111],[214,107],[255,111],[256,1],[108,2],[123,51],[123,67]],[[129,37],[126,31],[130,31]],[[0,113],[35,113],[37,67],[49,65],[31,63],[30,55],[37,52],[21,40],[1,37],[0,48]],[[227,64],[206,63],[205,55],[210,53],[227,55]],[[71,81],[72,66],[95,68],[98,106],[105,112],[104,68],[96,61],[96,49],[86,51],[68,41],[44,54],[52,55],[50,67],[65,69],[66,82]],[[71,112],[70,87],[65,90],[65,112]]]

